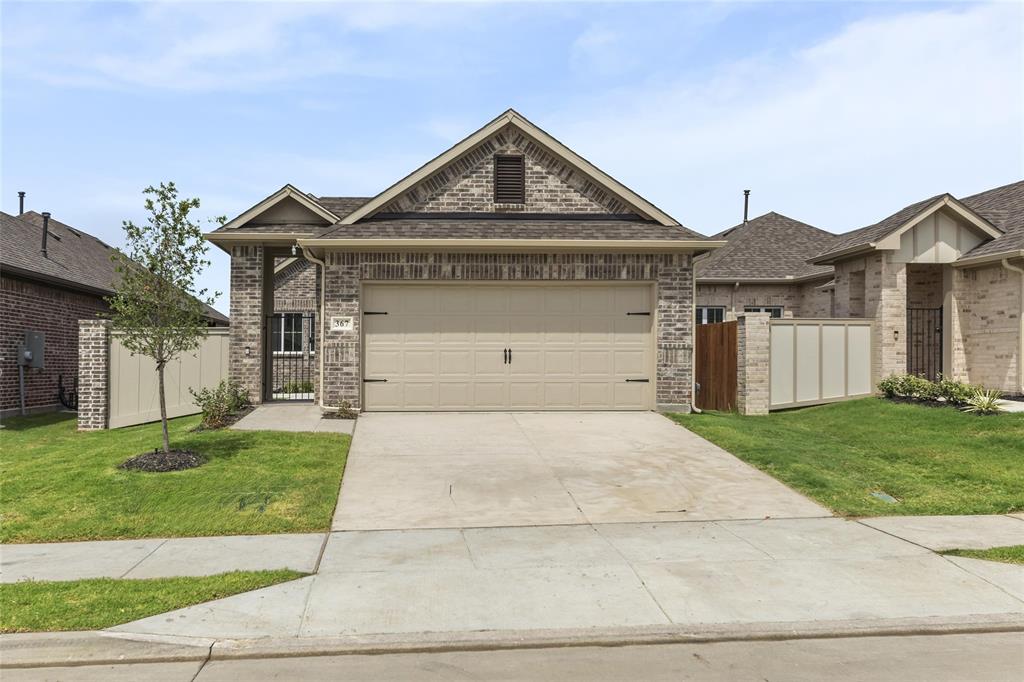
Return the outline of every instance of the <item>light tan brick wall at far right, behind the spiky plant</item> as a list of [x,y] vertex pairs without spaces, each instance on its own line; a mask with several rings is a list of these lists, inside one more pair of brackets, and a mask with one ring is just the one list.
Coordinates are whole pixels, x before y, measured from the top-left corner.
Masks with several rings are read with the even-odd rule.
[[953,376],[1018,393],[1021,275],[1001,265],[953,273]]

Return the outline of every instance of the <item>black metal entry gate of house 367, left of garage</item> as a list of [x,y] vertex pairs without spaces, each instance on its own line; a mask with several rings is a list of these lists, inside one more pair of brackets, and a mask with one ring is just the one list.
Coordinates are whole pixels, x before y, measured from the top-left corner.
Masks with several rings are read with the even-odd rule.
[[312,400],[316,357],[316,315],[278,312],[266,317],[263,356],[268,371],[266,398]]

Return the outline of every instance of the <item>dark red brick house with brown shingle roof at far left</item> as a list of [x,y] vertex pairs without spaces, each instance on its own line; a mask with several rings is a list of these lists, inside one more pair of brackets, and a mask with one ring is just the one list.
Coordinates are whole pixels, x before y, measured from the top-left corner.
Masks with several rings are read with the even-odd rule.
[[[0,212],[0,416],[20,410],[18,346],[26,332],[44,334],[45,367],[25,371],[26,410],[60,408],[59,386],[78,378],[78,321],[106,313],[114,293],[114,249],[48,213]],[[210,326],[227,317],[206,306]],[[67,392],[66,392],[67,395]]]

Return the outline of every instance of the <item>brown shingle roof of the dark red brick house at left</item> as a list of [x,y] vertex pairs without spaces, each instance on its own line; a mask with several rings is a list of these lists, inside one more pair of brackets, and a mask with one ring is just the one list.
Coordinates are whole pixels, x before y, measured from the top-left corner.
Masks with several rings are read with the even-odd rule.
[[[13,216],[0,211],[0,269],[97,296],[114,293],[120,274],[111,257],[117,250],[95,237],[50,218],[46,256],[40,251],[43,216],[27,211]],[[227,317],[203,304],[209,319]]]

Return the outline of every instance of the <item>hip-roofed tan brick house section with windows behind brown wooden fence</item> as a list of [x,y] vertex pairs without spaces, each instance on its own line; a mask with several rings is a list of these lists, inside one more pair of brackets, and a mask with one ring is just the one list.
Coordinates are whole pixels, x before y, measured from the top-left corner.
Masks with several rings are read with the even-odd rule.
[[835,242],[835,235],[771,212],[711,239],[726,244],[695,260],[698,325],[740,312],[833,315],[833,268],[807,259]]

